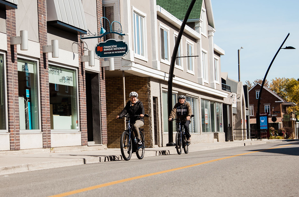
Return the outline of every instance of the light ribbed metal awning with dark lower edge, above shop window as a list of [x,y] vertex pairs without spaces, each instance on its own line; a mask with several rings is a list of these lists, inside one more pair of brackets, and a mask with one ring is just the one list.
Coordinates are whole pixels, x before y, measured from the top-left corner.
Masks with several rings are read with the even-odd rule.
[[47,0],[47,22],[71,32],[87,33],[81,0]]

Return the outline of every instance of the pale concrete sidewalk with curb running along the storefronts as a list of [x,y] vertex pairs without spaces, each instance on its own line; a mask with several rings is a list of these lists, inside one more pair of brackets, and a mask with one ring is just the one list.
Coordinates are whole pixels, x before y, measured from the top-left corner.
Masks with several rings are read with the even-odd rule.
[[[285,140],[245,140],[231,142],[214,142],[190,144],[189,152],[214,150],[239,146],[249,146],[266,143],[286,143]],[[98,150],[97,150],[98,149]],[[154,147],[146,148],[144,157],[177,154],[176,148]],[[182,153],[184,154],[184,152]],[[131,159],[137,159],[132,154]],[[46,149],[0,151],[0,175],[26,172],[31,170],[65,167],[82,164],[95,164],[105,161],[123,160],[120,149],[107,149],[102,146],[57,147]]]

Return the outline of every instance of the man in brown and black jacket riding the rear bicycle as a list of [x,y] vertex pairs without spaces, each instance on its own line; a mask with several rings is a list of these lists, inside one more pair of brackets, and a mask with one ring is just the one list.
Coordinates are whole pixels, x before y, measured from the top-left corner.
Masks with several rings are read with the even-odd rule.
[[169,121],[172,121],[173,118],[180,118],[180,119],[187,119],[186,122],[182,122],[183,126],[185,128],[185,133],[186,133],[186,137],[187,137],[187,142],[190,143],[191,142],[191,135],[189,132],[189,124],[191,123],[190,118],[192,115],[192,109],[191,109],[191,105],[188,101],[186,101],[186,97],[184,95],[180,95],[178,96],[178,100],[179,102],[177,102],[174,107],[173,110],[171,110],[170,116],[168,118]]

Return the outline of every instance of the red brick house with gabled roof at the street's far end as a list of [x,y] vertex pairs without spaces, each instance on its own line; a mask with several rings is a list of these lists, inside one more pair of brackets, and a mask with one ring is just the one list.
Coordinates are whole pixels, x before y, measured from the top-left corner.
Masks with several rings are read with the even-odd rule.
[[[255,128],[256,125],[256,113],[257,113],[257,101],[260,93],[260,84],[255,84],[249,90],[249,112],[250,112],[250,125],[251,128]],[[274,93],[267,87],[263,87],[262,97],[260,100],[260,113],[269,113],[268,122],[269,127],[274,127],[276,130],[281,127],[292,127],[295,132],[296,118],[295,113],[289,112],[288,107],[296,106],[295,103],[288,102]],[[274,122],[271,120],[271,115],[277,118]]]

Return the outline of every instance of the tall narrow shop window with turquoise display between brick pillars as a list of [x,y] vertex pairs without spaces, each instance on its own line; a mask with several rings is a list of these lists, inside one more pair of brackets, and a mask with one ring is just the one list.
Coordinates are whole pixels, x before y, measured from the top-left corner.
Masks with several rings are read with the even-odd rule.
[[37,68],[35,61],[18,59],[20,130],[39,129]]

